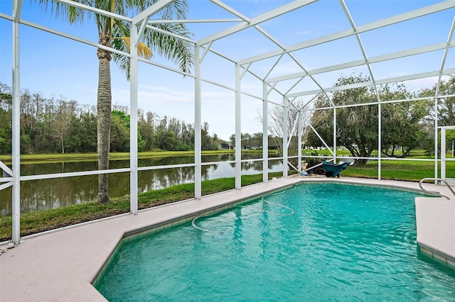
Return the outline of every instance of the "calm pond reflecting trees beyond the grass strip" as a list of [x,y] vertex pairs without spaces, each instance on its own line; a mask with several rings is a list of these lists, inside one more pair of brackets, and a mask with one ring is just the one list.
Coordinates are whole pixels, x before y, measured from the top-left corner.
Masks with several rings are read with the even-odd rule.
[[[272,155],[270,155],[272,157]],[[261,158],[262,155],[242,155],[242,160]],[[220,162],[202,166],[202,179],[235,177],[233,154],[203,155],[203,162]],[[194,157],[171,156],[153,157],[139,160],[139,167],[167,164],[190,164]],[[111,160],[110,169],[129,167],[129,160]],[[21,164],[21,175],[39,175],[63,172],[92,171],[97,169],[97,161],[53,162],[43,164]],[[268,172],[282,171],[282,160],[270,160]],[[262,161],[242,163],[242,175],[262,173]],[[194,182],[194,167],[157,169],[139,172],[138,192],[162,189],[177,184]],[[77,203],[95,201],[98,194],[97,175],[63,177],[21,182],[21,213],[43,211],[51,208],[70,206]],[[109,174],[109,196],[119,197],[129,194],[129,173]],[[10,216],[11,187],[0,191],[0,216]]]

